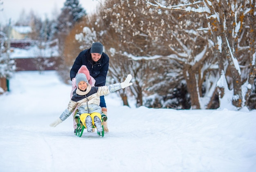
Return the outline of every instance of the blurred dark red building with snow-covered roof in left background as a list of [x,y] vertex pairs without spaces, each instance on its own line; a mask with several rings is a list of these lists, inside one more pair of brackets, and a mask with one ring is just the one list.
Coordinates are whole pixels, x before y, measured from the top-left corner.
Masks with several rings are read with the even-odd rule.
[[[14,47],[13,47],[14,46]],[[61,64],[58,40],[12,40],[10,58],[15,60],[16,71],[58,70]]]

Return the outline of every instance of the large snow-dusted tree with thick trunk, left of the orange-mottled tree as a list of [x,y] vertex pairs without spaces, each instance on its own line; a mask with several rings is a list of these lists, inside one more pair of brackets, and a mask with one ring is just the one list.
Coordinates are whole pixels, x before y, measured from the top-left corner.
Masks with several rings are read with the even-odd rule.
[[[168,1],[168,3],[175,2]],[[182,64],[183,77],[186,79],[187,89],[191,95],[192,108],[210,106],[216,93],[217,80],[213,79],[208,82],[207,93],[202,93],[202,87],[207,77],[216,76],[215,71],[218,68],[216,60],[207,58],[210,55],[212,44],[208,44],[206,41],[207,35],[204,33],[204,22],[202,22],[205,20],[204,16],[193,13],[191,17],[189,13],[185,15],[179,11],[173,13],[162,7],[159,9],[154,8],[154,5],[151,6],[151,8],[148,7],[142,0],[117,2],[113,8],[107,8],[108,11],[111,11],[110,14],[115,15],[110,25],[119,35],[124,35],[120,37],[123,40],[122,45],[130,40],[132,44],[137,44],[136,48],[139,49],[142,46],[138,42],[142,41],[138,41],[136,38],[144,36],[141,39],[144,40],[144,47],[140,51],[132,51],[135,56],[158,55]],[[202,31],[197,29],[202,29]],[[127,31],[132,36],[128,37],[125,34]],[[128,47],[127,49],[132,49],[130,44]],[[150,59],[147,58],[147,60]],[[158,68],[161,68],[163,66],[161,58],[158,60],[159,63],[156,63],[155,66],[159,65]],[[173,73],[176,68],[169,63],[169,69],[169,73]],[[158,73],[158,75],[163,75],[163,73]],[[164,86],[168,87],[168,82]],[[207,101],[201,101],[200,97]]]

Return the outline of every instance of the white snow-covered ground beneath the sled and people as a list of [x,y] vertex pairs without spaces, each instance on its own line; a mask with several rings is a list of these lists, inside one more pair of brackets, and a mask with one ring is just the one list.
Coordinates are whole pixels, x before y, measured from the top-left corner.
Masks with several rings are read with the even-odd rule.
[[0,95],[0,172],[255,172],[256,111],[122,106],[106,96],[104,137],[73,133],[71,86],[55,71],[18,72]]

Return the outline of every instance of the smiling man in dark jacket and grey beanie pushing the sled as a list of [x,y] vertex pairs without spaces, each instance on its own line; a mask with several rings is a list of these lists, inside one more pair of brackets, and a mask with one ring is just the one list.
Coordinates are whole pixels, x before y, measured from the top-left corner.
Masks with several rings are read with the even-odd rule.
[[[95,86],[105,86],[108,73],[109,57],[103,53],[103,45],[100,42],[94,42],[90,49],[81,51],[70,70],[70,79],[76,77],[79,68],[85,65],[90,71],[90,75],[95,79]],[[107,106],[104,96],[100,97],[102,112],[107,116]],[[108,132],[107,121],[103,121],[104,131]]]

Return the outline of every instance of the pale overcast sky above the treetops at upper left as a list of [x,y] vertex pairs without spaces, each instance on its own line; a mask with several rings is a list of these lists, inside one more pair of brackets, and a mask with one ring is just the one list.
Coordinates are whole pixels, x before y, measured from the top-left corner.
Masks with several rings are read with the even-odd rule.
[[[61,11],[66,0],[0,0],[0,24],[8,24],[9,19],[15,23],[22,12],[28,15],[31,10],[42,19],[45,18],[45,14],[48,18],[52,19],[56,10]],[[99,5],[102,0],[79,0],[82,7],[87,13],[95,11],[96,6]]]

